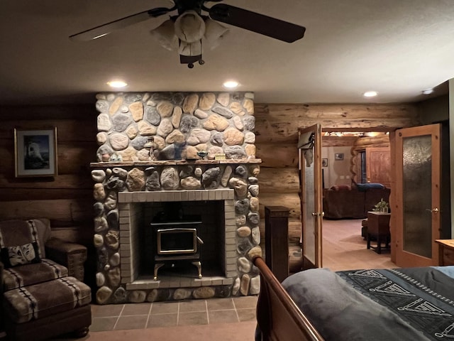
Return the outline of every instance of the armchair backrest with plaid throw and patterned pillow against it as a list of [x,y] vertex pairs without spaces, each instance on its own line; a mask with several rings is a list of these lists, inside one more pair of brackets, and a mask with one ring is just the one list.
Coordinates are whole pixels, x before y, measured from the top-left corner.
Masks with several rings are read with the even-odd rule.
[[36,220],[0,222],[0,260],[5,268],[38,263],[41,257],[45,256],[40,251],[37,224],[43,224],[43,222]]

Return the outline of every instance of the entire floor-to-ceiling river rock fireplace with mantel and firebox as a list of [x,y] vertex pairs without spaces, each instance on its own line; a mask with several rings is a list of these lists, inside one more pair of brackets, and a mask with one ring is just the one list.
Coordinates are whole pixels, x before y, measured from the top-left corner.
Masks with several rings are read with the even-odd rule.
[[[261,161],[255,158],[253,95],[99,94],[96,108],[96,301],[257,294],[260,277],[251,258],[262,252]],[[150,136],[153,153],[145,148]],[[198,151],[206,151],[206,159]],[[172,223],[200,220],[194,255],[157,256],[153,222],[162,215]]]

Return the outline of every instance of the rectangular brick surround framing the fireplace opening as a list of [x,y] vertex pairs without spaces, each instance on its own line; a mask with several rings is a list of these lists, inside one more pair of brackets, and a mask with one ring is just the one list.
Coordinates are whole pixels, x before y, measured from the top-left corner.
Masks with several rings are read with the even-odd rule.
[[[181,286],[197,287],[216,285],[231,285],[236,277],[236,222],[233,190],[171,190],[159,192],[118,193],[120,208],[120,251],[121,251],[121,283],[126,284],[127,290],[142,290],[153,288],[180,288]],[[223,256],[220,272],[225,277],[204,276],[202,278],[175,276],[167,280],[150,281],[148,276],[140,276],[138,261],[140,259],[140,229],[144,226],[143,202],[194,202],[194,201],[222,201],[223,236],[217,236],[223,241],[221,250]],[[206,205],[206,203],[205,203]],[[135,224],[135,217],[138,223]],[[148,227],[149,228],[149,227]],[[153,242],[153,241],[152,241]],[[204,243],[207,244],[206,240]],[[150,264],[151,265],[151,264]],[[151,266],[150,266],[151,268]],[[142,277],[142,278],[140,278]],[[145,277],[145,278],[144,278]],[[160,276],[159,278],[162,278]]]

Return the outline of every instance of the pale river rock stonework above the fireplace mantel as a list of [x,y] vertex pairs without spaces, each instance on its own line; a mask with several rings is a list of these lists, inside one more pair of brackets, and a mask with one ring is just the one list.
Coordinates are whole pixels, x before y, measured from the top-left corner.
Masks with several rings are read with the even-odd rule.
[[[118,93],[98,94],[97,161],[146,161],[150,136],[157,160],[255,158],[253,94]],[[182,148],[182,155],[179,155]],[[177,156],[177,157],[176,157]]]

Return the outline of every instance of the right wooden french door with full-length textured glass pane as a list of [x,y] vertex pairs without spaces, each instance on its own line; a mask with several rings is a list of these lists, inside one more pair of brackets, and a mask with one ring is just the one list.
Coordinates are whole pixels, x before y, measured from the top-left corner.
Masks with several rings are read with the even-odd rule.
[[396,264],[438,265],[435,239],[441,231],[441,125],[398,129],[395,141],[392,215]]

